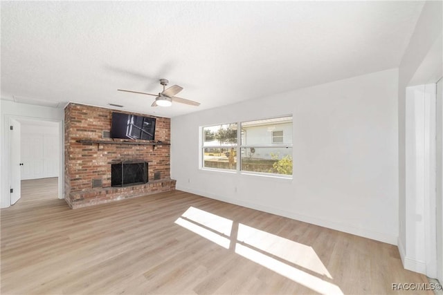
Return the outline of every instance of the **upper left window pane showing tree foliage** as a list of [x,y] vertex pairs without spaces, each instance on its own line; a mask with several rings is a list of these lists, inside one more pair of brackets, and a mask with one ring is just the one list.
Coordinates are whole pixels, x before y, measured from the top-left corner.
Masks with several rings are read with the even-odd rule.
[[203,128],[203,146],[237,145],[237,124],[222,124]]

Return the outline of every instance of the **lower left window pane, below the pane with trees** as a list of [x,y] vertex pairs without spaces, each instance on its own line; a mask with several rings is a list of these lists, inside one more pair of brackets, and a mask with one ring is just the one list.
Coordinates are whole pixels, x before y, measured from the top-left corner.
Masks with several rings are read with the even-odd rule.
[[204,148],[203,166],[205,168],[237,169],[237,155],[235,148]]

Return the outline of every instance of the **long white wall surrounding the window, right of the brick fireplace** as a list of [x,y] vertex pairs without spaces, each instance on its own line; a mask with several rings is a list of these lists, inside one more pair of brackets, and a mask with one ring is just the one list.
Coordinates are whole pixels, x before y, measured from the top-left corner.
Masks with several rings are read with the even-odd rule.
[[[172,118],[177,189],[395,244],[397,75],[385,70]],[[293,114],[293,180],[199,170],[199,126]]]

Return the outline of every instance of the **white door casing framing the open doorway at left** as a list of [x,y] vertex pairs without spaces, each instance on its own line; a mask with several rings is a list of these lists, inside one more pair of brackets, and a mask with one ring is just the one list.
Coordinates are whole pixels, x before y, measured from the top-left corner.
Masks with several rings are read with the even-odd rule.
[[[42,117],[26,117],[26,116],[19,116],[19,115],[5,115],[4,119],[4,130],[3,134],[4,136],[4,155],[6,156],[6,159],[10,158],[11,153],[11,140],[10,140],[10,124],[11,120],[17,120],[20,122],[20,120],[34,120],[34,121],[46,121],[46,122],[55,122],[58,124],[58,135],[59,135],[59,177],[58,177],[58,198],[63,199],[64,198],[64,121],[63,120],[53,120],[53,119],[47,119]],[[6,184],[3,189],[3,193],[1,194],[2,200],[1,200],[1,207],[6,208],[10,207],[10,184],[11,184],[11,178],[10,178],[10,161],[6,160],[3,161],[5,167],[3,171],[6,171],[7,173],[3,173],[3,179],[2,183]]]

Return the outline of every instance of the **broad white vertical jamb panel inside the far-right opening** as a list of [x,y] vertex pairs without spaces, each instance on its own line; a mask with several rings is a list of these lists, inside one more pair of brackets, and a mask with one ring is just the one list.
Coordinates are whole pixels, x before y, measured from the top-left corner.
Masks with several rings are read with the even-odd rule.
[[404,268],[437,276],[436,84],[406,88],[406,248]]

